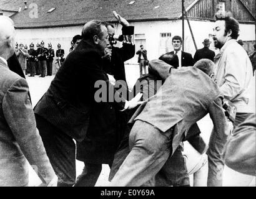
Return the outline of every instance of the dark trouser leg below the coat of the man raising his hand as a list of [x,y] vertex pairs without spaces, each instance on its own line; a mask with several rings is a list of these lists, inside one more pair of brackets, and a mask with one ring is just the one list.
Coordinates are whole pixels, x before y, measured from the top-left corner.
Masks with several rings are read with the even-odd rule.
[[84,162],[84,169],[82,174],[77,177],[74,187],[94,187],[101,174],[101,170],[102,164]]

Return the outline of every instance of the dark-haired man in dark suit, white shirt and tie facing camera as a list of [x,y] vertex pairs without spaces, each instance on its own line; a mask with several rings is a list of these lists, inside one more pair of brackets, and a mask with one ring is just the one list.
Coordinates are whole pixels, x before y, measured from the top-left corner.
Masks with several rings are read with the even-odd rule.
[[177,54],[179,58],[179,67],[191,67],[194,65],[194,59],[192,58],[192,55],[187,52],[183,52],[181,50],[183,41],[182,38],[178,35],[172,37],[172,46],[174,47],[174,51],[170,52],[172,54]]

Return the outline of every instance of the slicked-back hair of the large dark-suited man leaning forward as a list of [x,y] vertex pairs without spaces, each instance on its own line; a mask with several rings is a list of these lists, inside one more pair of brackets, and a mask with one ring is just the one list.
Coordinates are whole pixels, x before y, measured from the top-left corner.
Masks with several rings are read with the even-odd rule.
[[106,26],[106,22],[99,20],[92,20],[87,22],[82,28],[82,39],[92,40],[94,35],[102,37],[101,26]]

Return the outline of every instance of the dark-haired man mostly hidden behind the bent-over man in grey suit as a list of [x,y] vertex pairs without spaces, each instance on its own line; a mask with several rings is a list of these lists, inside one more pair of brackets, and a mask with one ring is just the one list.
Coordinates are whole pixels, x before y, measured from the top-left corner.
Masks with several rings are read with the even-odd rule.
[[[162,83],[164,83],[167,76],[169,76],[170,68],[174,67],[177,68],[179,65],[179,60],[177,55],[165,53],[164,55],[161,55],[159,57],[160,60],[163,60],[165,63],[169,64],[169,67],[167,65],[157,65],[157,68],[154,68],[154,65],[149,65],[149,73],[141,78],[139,78],[132,90],[132,93],[136,95],[137,93],[142,93],[143,101],[146,101],[155,93],[157,90],[162,86]],[[141,108],[141,107],[140,107]],[[138,110],[140,109],[138,108]],[[132,116],[135,113],[136,109],[132,109],[129,111],[129,118],[132,118]],[[137,113],[135,113],[136,115]],[[112,180],[114,175],[116,174],[117,170],[121,166],[122,162],[126,159],[127,155],[129,154],[129,133],[130,129],[132,128],[133,123],[129,123],[126,127],[126,134],[124,135],[120,146],[118,147],[115,158],[111,167],[111,172],[109,174],[109,181]],[[186,161],[187,165],[191,164],[191,160],[194,157],[197,157],[196,160],[194,160],[194,172],[201,169],[202,162],[199,160],[202,160],[202,154],[205,151],[206,144],[202,140],[202,138],[199,136],[200,129],[195,124],[190,128],[189,130],[193,134],[193,136],[190,136],[188,141],[192,144],[193,147],[197,150],[197,152],[190,152],[189,154],[189,161]],[[191,147],[189,148],[191,150]],[[194,149],[194,150],[195,150]],[[187,150],[185,150],[187,151]],[[206,160],[207,162],[207,160]],[[161,172],[159,175],[157,175],[157,179],[155,180],[156,186],[188,186],[190,185],[189,182],[189,174],[185,166],[184,162],[184,155],[182,155],[182,146],[179,146],[179,149],[175,150],[174,155],[172,156],[172,159],[169,161],[169,170],[168,175],[163,174]],[[195,168],[195,165],[197,165],[197,169]],[[199,176],[197,174],[197,176]],[[201,175],[202,176],[202,175]],[[207,178],[207,175],[205,176]],[[199,180],[195,179],[195,182],[199,184]]]

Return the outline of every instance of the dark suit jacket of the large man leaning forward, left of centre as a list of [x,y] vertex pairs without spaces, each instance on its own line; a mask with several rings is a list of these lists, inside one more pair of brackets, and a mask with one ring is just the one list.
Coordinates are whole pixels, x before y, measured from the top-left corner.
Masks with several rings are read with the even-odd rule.
[[116,118],[112,117],[113,107],[123,109],[125,100],[120,103],[97,103],[94,98],[99,90],[95,86],[96,81],[106,83],[106,91],[116,93],[102,70],[101,53],[82,40],[67,55],[51,86],[36,104],[35,114],[76,141],[97,133],[107,133],[109,129],[112,131],[116,123]]

